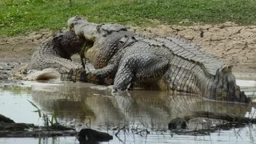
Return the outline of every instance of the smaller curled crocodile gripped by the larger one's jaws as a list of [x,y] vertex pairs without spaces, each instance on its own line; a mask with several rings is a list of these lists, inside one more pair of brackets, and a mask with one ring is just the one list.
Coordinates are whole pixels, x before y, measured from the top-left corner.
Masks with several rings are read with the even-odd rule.
[[[65,74],[70,69],[83,70],[81,64],[72,62],[71,56],[78,54],[85,42],[85,38],[78,38],[74,32],[66,31],[54,34],[38,46],[25,69],[28,71],[54,68],[60,74]],[[48,70],[46,73],[50,73],[50,71]],[[47,78],[50,78],[50,76],[39,79]]]

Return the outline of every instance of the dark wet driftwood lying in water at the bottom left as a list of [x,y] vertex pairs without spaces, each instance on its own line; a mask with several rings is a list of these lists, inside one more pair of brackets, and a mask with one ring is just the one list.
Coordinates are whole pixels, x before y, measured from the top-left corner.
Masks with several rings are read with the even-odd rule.
[[0,138],[44,138],[56,136],[78,136],[80,143],[108,142],[113,136],[91,129],[76,130],[54,123],[51,126],[34,126],[34,124],[15,123],[0,114]]

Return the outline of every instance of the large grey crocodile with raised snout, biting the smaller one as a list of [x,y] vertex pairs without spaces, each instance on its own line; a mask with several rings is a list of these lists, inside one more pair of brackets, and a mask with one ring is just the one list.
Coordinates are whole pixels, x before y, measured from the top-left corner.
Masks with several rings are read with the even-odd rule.
[[[96,68],[82,74],[70,70],[70,80],[110,84],[114,78],[114,92],[131,86],[157,87],[214,100],[250,101],[236,85],[232,66],[184,38],[146,38],[118,29],[119,25],[90,23],[78,16],[70,18],[68,25],[79,37],[94,42],[85,56]],[[114,30],[106,31],[106,27]]]

